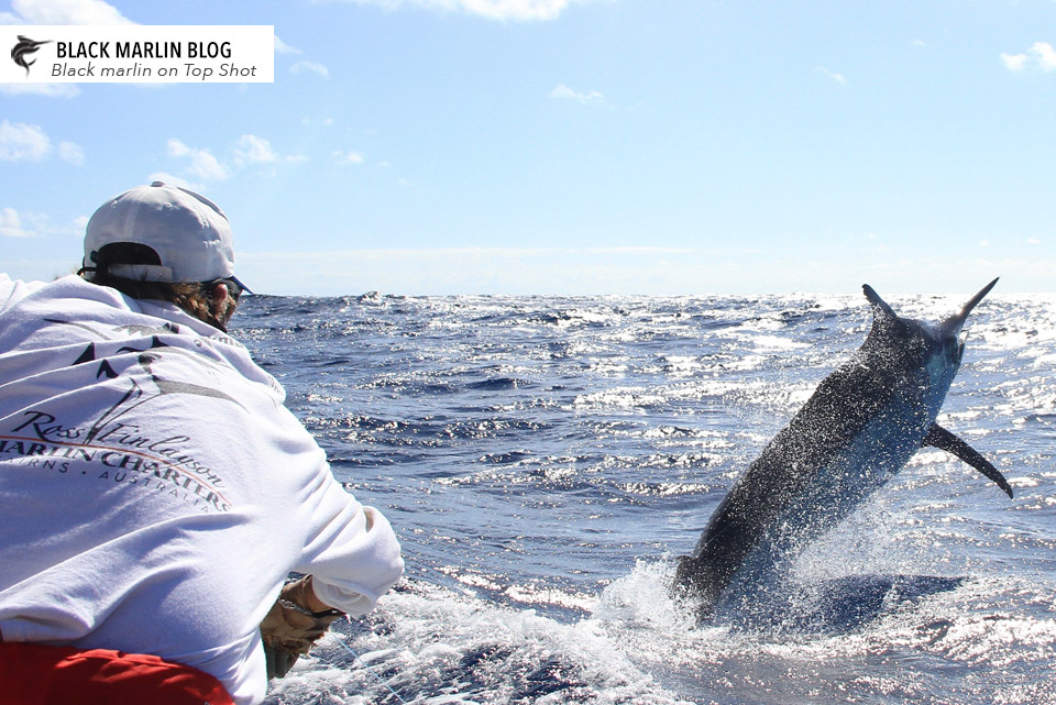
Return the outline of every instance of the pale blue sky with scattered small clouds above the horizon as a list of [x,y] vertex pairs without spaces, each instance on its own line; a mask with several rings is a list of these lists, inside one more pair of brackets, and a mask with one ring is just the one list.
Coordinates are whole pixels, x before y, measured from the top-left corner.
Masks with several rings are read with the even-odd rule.
[[1056,290],[1056,0],[7,1],[276,37],[272,84],[0,85],[14,278],[162,179],[266,294]]

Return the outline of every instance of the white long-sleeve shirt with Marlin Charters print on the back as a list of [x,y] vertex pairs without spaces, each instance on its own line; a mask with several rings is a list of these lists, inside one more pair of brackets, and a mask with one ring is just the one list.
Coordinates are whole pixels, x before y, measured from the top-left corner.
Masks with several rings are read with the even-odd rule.
[[284,399],[172,304],[0,274],[3,639],[156,654],[249,704],[289,571],[329,605],[373,608],[399,544]]

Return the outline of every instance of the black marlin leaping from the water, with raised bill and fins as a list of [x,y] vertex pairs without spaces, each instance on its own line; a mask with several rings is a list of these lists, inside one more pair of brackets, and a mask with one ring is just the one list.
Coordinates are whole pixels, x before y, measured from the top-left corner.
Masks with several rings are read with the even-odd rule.
[[[961,328],[987,285],[942,323],[900,318],[868,285],[873,323],[854,357],[836,368],[748,466],[680,560],[676,591],[706,616],[732,594],[787,570],[817,537],[894,477],[923,445],[954,453],[994,481],[998,470],[935,423],[965,352]],[[727,594],[728,593],[728,594]]]

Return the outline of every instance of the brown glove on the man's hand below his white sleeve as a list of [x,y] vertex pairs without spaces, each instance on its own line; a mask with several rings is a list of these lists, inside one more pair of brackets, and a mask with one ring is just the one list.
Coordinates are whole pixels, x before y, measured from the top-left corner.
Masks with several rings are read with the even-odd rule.
[[309,605],[320,603],[311,591],[311,575],[286,583],[278,602],[261,623],[267,678],[283,678],[297,659],[311,649],[317,639],[344,613],[338,609],[311,612]]

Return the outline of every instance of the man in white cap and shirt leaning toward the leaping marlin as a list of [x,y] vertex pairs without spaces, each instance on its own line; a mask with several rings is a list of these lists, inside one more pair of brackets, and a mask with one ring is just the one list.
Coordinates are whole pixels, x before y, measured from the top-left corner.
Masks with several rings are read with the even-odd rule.
[[0,703],[257,703],[265,617],[282,671],[374,607],[399,544],[224,332],[244,287],[219,208],[134,188],[84,265],[0,274]]

